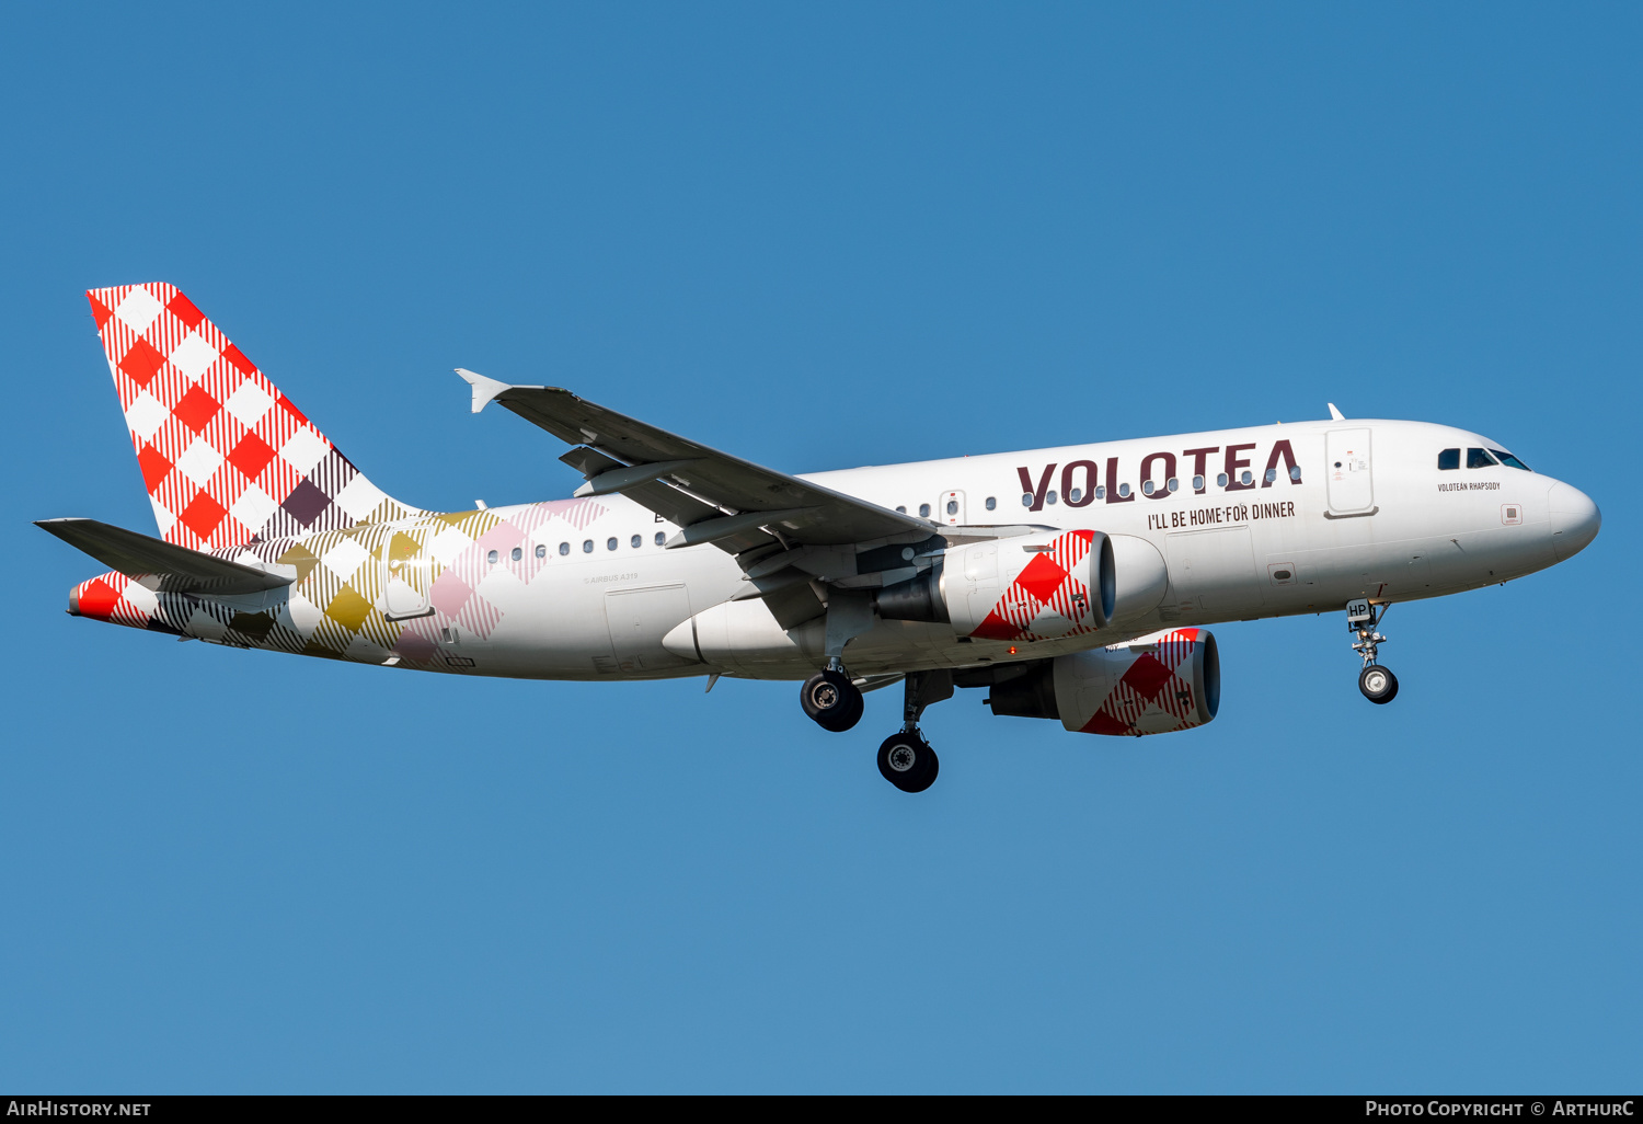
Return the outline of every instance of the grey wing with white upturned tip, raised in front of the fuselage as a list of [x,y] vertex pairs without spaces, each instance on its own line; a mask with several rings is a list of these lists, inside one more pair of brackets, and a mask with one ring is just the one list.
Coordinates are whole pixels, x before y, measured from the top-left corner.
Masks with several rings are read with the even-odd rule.
[[509,386],[457,373],[473,386],[473,412],[496,401],[580,445],[564,457],[587,477],[575,495],[619,491],[683,527],[669,546],[715,542],[739,552],[772,542],[766,527],[784,546],[914,541],[937,529],[928,519],[731,457],[557,386]]

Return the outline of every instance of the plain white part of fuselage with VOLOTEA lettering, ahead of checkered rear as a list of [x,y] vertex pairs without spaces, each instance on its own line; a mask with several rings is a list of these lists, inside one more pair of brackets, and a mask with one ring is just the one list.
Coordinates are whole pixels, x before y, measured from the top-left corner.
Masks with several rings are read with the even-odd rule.
[[[1457,468],[1438,467],[1446,449],[1459,449]],[[1521,468],[1467,468],[1469,449],[1502,445],[1426,422],[1323,421],[805,478],[946,527],[1135,536],[1167,562],[1163,598],[1125,621],[1125,636],[1102,629],[1006,644],[960,638],[946,624],[881,620],[846,651],[853,674],[872,675],[1042,659],[1162,628],[1337,611],[1357,597],[1390,603],[1456,593],[1541,570],[1595,534],[1584,495]],[[509,519],[529,508],[493,513]],[[495,628],[483,639],[457,629],[452,651],[472,661],[470,674],[486,675],[810,675],[822,659],[820,626],[782,634],[771,621],[764,639],[726,659],[703,661],[677,634],[664,643],[690,616],[749,592],[729,554],[660,546],[675,529],[619,495],[601,498],[585,526],[541,527],[524,539],[527,559],[547,547],[532,580],[491,590]],[[766,613],[756,598],[739,611]]]

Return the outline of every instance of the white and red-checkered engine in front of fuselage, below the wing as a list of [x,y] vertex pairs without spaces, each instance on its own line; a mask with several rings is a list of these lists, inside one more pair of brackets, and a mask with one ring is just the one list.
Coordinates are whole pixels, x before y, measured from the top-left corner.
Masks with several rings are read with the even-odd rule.
[[950,547],[910,582],[879,590],[879,616],[938,621],[960,636],[1055,639],[1135,620],[1168,570],[1145,539],[1101,531],[1019,534]]

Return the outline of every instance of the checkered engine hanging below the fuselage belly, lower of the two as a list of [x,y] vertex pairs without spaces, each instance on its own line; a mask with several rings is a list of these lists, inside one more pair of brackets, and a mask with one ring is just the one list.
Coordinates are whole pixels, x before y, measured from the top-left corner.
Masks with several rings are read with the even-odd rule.
[[1060,718],[1078,733],[1191,730],[1221,708],[1221,657],[1208,629],[1153,633],[1129,644],[1056,656],[996,682],[987,705],[996,715]]

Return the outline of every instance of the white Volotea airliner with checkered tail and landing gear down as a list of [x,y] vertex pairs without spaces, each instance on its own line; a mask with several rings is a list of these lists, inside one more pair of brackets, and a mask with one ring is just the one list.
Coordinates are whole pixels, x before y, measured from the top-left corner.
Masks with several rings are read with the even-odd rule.
[[790,475],[555,386],[457,370],[570,445],[564,500],[424,511],[375,486],[171,284],[87,293],[158,537],[38,526],[108,572],[69,613],[383,667],[511,679],[800,682],[830,731],[902,687],[877,751],[904,792],[927,707],[1088,735],[1211,721],[1206,626],[1346,618],[1388,703],[1388,606],[1569,559],[1600,524],[1503,444],[1347,419]]

